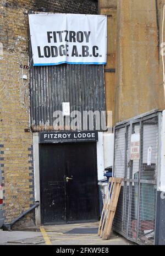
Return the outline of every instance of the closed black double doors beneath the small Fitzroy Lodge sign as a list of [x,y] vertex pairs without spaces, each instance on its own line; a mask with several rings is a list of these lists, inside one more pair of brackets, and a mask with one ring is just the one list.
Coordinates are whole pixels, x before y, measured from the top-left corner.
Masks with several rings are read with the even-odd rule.
[[96,143],[40,144],[41,223],[98,220]]

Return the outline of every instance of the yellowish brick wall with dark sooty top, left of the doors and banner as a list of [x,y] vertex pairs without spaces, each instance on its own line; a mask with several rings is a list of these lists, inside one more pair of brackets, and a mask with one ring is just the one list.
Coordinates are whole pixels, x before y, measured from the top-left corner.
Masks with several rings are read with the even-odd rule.
[[[97,1],[0,0],[0,163],[5,222],[34,204],[32,133],[29,129],[29,10],[97,14]],[[27,80],[23,80],[23,74]],[[34,225],[34,211],[15,227]]]

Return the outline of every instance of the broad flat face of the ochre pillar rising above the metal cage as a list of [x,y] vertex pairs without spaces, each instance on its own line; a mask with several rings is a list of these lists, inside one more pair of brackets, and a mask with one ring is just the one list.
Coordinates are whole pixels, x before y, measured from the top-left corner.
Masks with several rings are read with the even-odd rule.
[[155,0],[118,0],[115,123],[163,109]]

